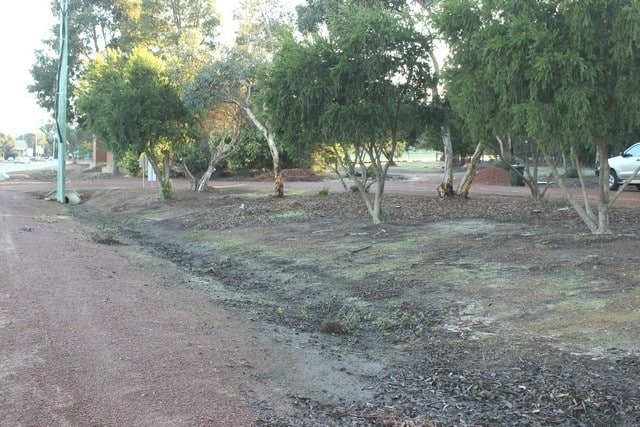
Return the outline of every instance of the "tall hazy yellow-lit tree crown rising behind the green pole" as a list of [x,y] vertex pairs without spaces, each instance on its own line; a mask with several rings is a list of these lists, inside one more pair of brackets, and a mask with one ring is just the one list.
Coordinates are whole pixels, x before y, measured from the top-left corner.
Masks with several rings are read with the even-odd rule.
[[[59,0],[50,4],[57,16]],[[220,24],[214,0],[74,0],[68,10],[69,96],[86,65],[106,48],[153,48],[174,66],[173,78],[188,79],[189,69],[198,68],[195,60],[206,57],[215,45]],[[36,51],[34,83],[29,87],[39,105],[50,111],[56,101],[58,27],[52,27],[51,36]],[[73,99],[69,107],[71,122]]]

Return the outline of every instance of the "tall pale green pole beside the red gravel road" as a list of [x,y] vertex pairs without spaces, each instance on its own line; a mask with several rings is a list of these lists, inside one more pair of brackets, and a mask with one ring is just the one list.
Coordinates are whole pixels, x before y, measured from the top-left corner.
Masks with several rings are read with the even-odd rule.
[[67,29],[67,0],[60,0],[60,64],[58,70],[58,105],[56,124],[58,127],[58,187],[57,200],[66,203],[66,142],[67,142],[67,81],[69,74],[69,30]]

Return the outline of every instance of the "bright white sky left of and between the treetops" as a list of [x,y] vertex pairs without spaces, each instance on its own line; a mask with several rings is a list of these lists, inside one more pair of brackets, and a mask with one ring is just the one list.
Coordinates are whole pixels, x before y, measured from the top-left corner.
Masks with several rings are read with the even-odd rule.
[[[292,8],[300,2],[282,1]],[[29,70],[35,62],[34,52],[59,19],[50,4],[51,0],[0,0],[0,132],[14,138],[37,132],[53,121],[27,90],[33,83]],[[230,21],[238,2],[218,0],[217,4],[223,22]]]

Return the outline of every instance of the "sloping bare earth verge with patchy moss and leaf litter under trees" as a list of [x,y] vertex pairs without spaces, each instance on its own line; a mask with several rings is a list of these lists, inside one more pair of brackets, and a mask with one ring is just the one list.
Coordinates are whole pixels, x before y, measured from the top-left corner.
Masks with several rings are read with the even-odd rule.
[[563,206],[509,197],[388,195],[372,226],[349,193],[86,196],[75,214],[126,217],[123,238],[142,233],[203,292],[349,374],[268,425],[639,421],[633,210],[593,237]]

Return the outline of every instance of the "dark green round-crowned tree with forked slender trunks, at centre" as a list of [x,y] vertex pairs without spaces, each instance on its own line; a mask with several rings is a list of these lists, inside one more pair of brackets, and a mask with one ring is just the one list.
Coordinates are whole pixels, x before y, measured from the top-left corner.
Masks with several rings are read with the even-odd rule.
[[[431,38],[408,13],[342,5],[326,31],[291,38],[276,55],[264,99],[281,138],[330,148],[362,194],[374,223],[401,141],[427,124]],[[371,194],[369,183],[375,181]]]

